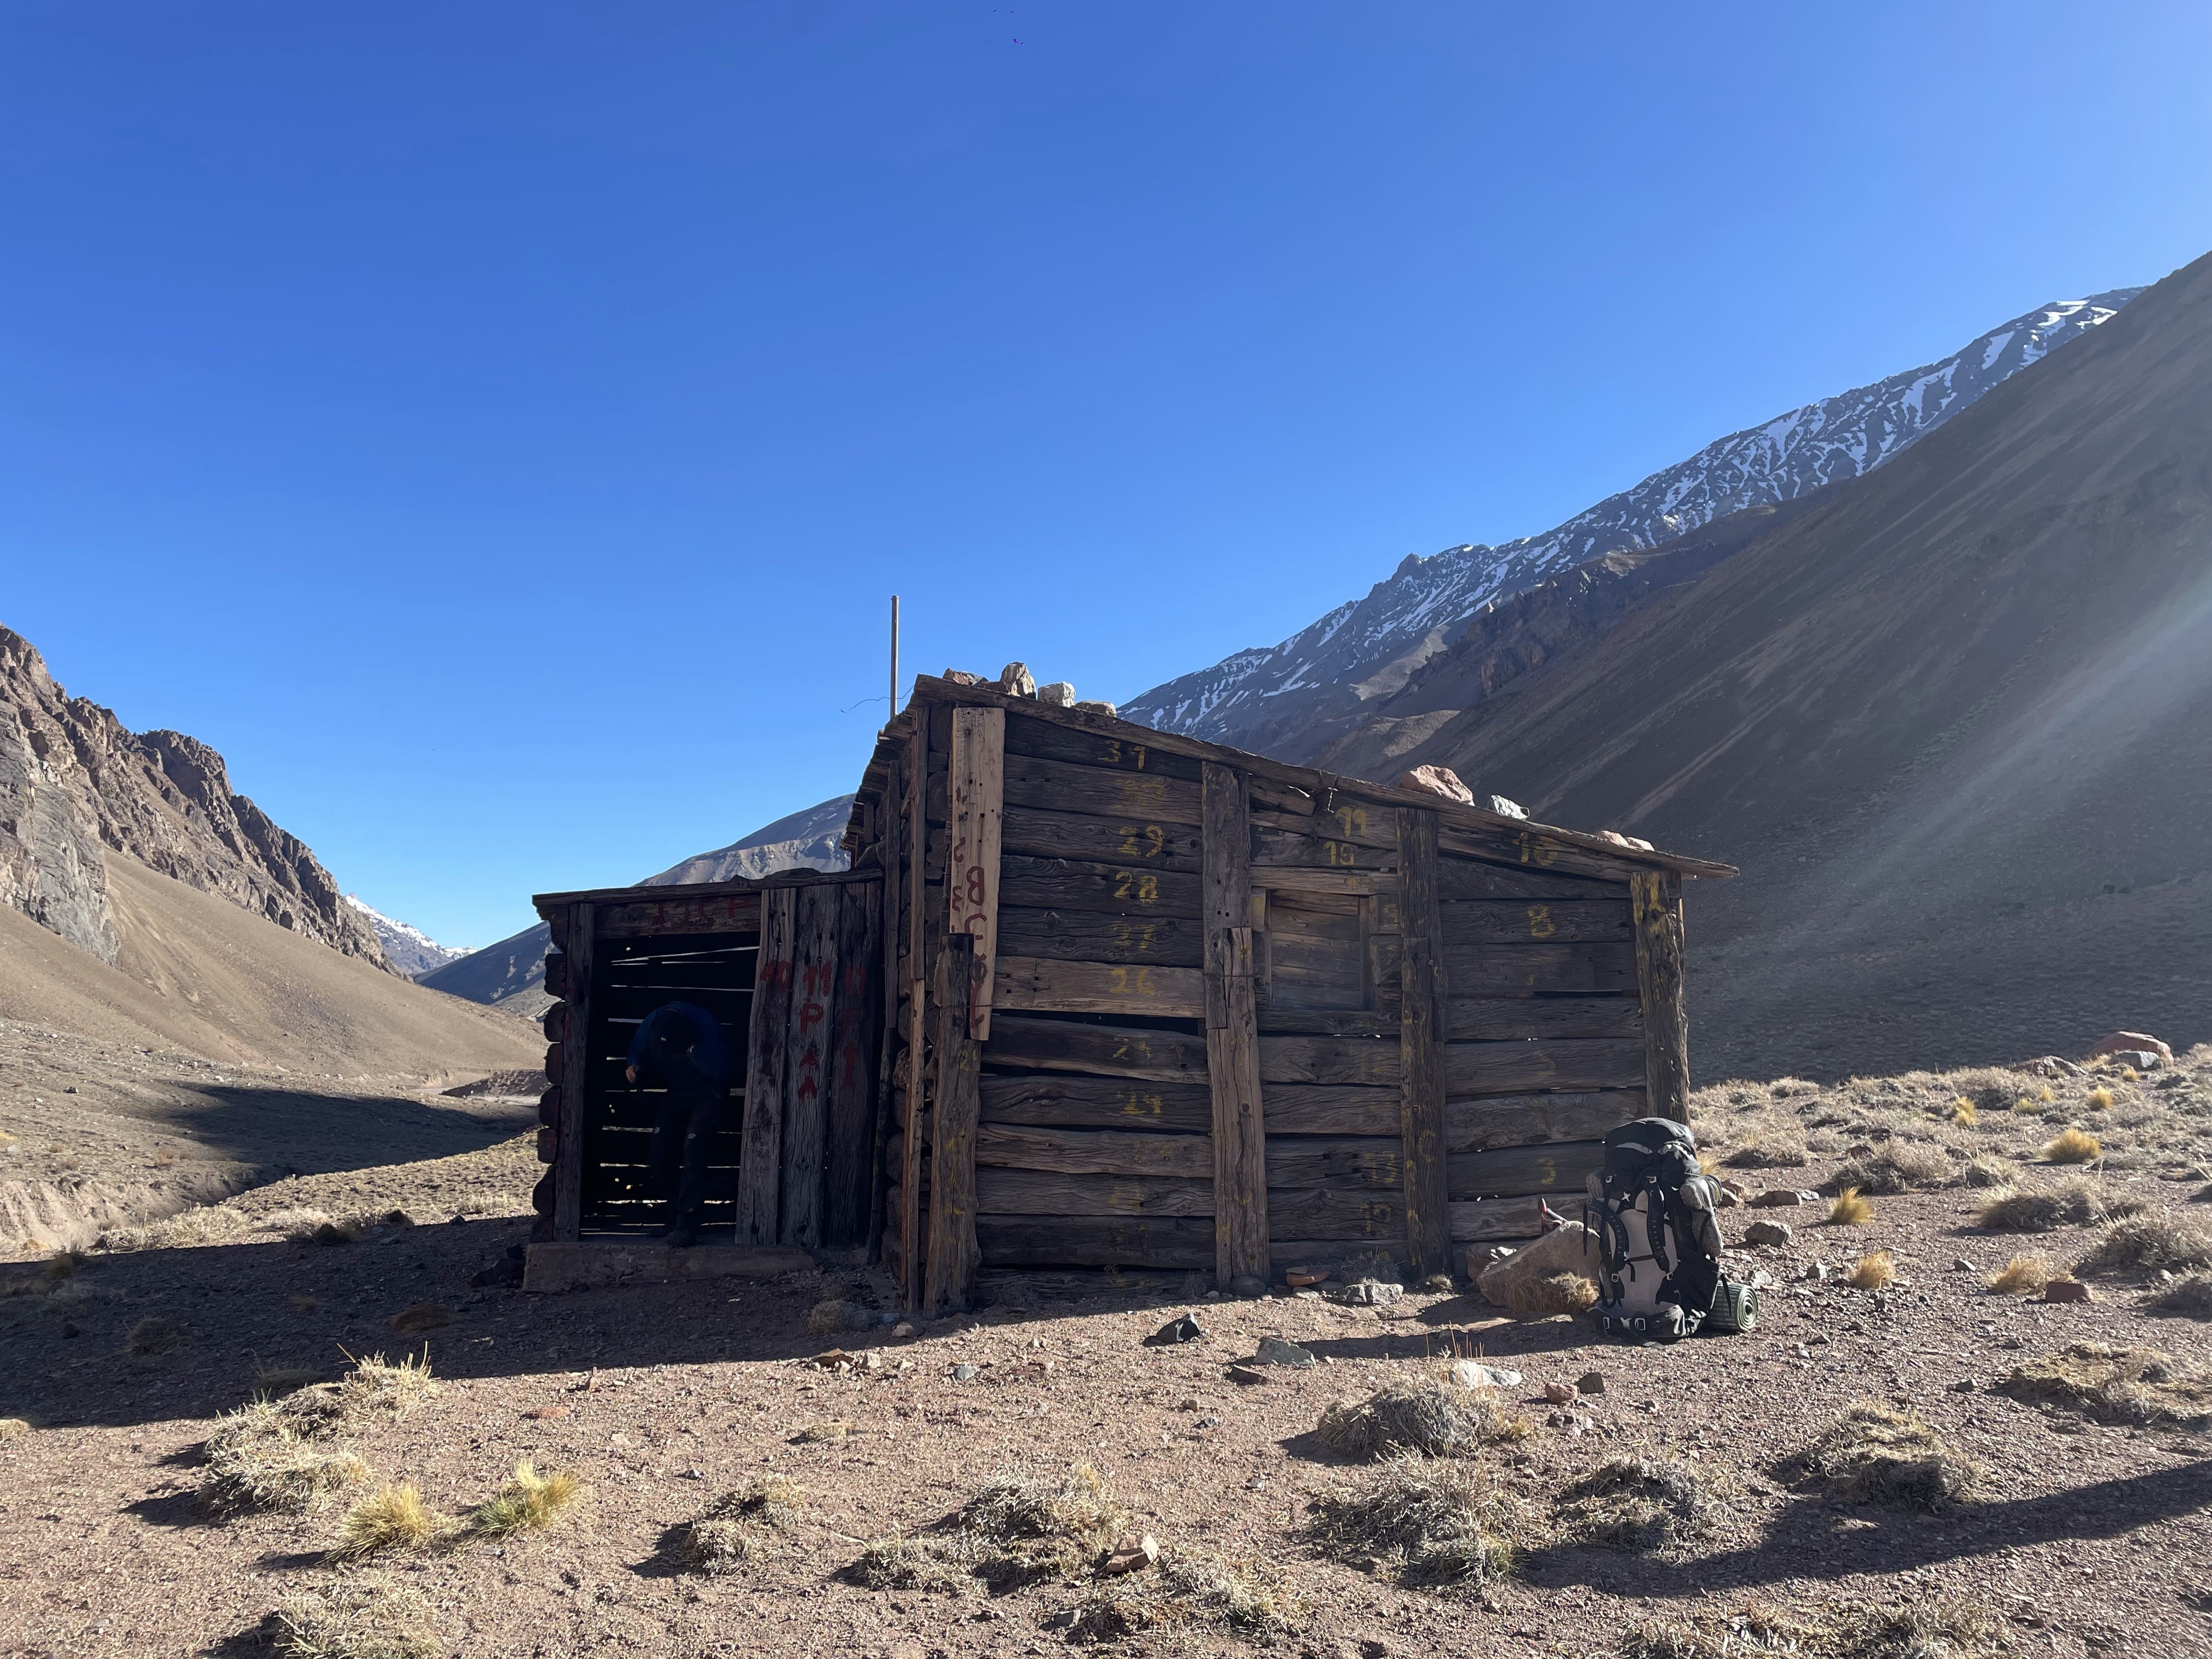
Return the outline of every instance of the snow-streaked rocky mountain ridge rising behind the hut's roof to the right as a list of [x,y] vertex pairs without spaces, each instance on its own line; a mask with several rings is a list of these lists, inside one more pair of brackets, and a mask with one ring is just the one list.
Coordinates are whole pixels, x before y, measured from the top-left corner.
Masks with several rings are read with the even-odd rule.
[[1239,650],[1139,695],[1124,719],[1307,759],[1358,706],[1387,697],[1484,604],[1619,549],[1650,549],[1745,507],[1880,467],[1993,385],[2110,319],[2141,288],[2042,305],[1942,363],[1734,431],[1566,524],[1502,546],[1407,557],[1365,599],[1272,648]]

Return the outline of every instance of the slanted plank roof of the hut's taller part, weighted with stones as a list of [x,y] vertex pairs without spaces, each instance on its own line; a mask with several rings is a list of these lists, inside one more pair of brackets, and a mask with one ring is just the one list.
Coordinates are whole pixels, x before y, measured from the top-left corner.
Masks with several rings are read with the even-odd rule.
[[[1181,732],[1159,732],[1150,726],[1124,721],[1113,714],[1095,714],[1082,708],[1060,708],[1055,703],[1040,703],[1031,697],[1009,697],[995,686],[962,686],[933,675],[918,675],[914,679],[914,697],[907,701],[907,708],[900,710],[876,739],[876,752],[869,757],[867,772],[860,776],[858,794],[863,799],[880,799],[885,794],[891,779],[891,765],[905,750],[907,739],[914,734],[914,723],[918,719],[916,710],[936,703],[960,708],[1011,708],[1018,714],[1029,714],[1031,719],[1051,721],[1079,732],[1141,741],[1161,754],[1188,754],[1197,761],[1219,761],[1221,765],[1232,765],[1239,772],[1245,772],[1261,785],[1272,785],[1267,792],[1281,794],[1281,799],[1270,805],[1287,807],[1292,812],[1325,812],[1334,799],[1369,801],[1389,807],[1422,807],[1438,814],[1440,830],[1462,827],[1480,834],[1495,834],[1500,830],[1511,834],[1542,834],[1548,843],[1555,843],[1559,849],[1573,849],[1579,858],[1597,858],[1619,865],[1624,876],[1628,869],[1672,869],[1681,876],[1703,876],[1708,880],[1721,880],[1736,874],[1734,865],[1712,863],[1710,858],[1624,847],[1617,841],[1606,841],[1604,836],[1586,830],[1562,830],[1557,825],[1533,823],[1528,818],[1509,818],[1502,812],[1460,805],[1458,801],[1447,801],[1422,790],[1400,790],[1387,783],[1369,783],[1365,779],[1343,779],[1334,772],[1316,772],[1307,765],[1270,761],[1265,754],[1250,754],[1245,750],[1228,748],[1225,743],[1208,743],[1197,737],[1183,737]],[[847,856],[860,854],[860,834],[852,825],[845,830],[843,847]]]

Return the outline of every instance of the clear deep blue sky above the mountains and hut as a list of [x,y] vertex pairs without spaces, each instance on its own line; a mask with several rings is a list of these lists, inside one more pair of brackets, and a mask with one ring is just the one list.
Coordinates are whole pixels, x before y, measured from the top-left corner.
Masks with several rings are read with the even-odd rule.
[[[0,13],[0,624],[482,945],[2212,246],[2203,7]],[[878,701],[863,701],[878,699]]]

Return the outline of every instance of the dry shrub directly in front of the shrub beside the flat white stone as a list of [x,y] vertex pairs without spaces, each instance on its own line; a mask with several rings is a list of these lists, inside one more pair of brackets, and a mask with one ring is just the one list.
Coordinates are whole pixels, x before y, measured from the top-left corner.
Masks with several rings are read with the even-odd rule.
[[1310,1504],[1307,1535],[1347,1562],[1383,1562],[1402,1584],[1480,1588],[1513,1571],[1531,1517],[1489,1473],[1394,1455]]

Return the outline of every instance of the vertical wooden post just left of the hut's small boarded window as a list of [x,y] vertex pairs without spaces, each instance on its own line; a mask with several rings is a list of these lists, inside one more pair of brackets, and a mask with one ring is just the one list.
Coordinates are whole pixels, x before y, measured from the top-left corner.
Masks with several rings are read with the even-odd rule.
[[1265,1283],[1267,1121],[1252,1006],[1252,803],[1243,772],[1206,763],[1201,891],[1206,1077],[1214,1106],[1214,1276]]

